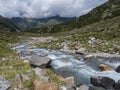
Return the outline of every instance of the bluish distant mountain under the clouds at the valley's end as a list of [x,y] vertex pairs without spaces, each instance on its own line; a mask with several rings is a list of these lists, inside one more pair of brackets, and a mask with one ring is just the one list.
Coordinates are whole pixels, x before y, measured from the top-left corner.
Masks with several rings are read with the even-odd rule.
[[56,24],[70,21],[72,19],[75,19],[75,17],[60,17],[59,15],[57,15],[40,19],[13,17],[10,20],[22,30],[27,30],[31,28],[43,28],[46,26],[53,26]]

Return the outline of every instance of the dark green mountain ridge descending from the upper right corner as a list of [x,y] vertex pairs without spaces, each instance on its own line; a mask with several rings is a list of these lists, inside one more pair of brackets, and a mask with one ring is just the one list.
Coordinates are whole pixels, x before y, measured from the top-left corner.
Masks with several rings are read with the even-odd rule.
[[51,27],[31,29],[30,32],[56,33],[60,31],[70,31],[118,16],[120,16],[120,0],[109,0],[103,5],[94,8],[88,14],[80,16],[74,20]]

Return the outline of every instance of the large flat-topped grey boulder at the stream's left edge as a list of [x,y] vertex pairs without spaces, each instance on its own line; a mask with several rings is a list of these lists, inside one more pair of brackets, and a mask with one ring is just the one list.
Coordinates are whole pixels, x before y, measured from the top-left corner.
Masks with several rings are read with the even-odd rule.
[[50,62],[51,59],[48,57],[40,57],[37,55],[32,55],[30,60],[30,65],[33,67],[46,68],[46,67],[50,67],[49,66]]

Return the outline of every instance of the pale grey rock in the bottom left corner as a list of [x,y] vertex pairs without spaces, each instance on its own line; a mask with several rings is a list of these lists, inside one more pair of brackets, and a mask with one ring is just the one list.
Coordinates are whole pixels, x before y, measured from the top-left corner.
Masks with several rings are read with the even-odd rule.
[[8,90],[11,87],[9,81],[0,77],[0,90]]

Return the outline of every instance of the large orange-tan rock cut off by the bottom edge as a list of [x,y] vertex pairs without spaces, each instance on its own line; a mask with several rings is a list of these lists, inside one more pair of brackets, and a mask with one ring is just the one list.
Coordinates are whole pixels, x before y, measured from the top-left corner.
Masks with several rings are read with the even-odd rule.
[[49,83],[43,80],[34,80],[33,90],[58,90],[58,87],[53,83]]

